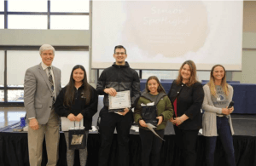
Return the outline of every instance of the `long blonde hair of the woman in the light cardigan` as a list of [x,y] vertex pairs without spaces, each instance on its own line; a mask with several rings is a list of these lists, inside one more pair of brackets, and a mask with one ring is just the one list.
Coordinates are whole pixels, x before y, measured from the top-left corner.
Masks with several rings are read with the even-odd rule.
[[207,83],[207,84],[208,84],[208,86],[210,87],[211,94],[212,94],[213,96],[216,96],[215,78],[213,77],[213,72],[214,72],[214,69],[215,69],[216,67],[218,67],[218,66],[220,66],[220,67],[222,67],[222,68],[224,69],[224,77],[222,78],[222,81],[221,81],[221,87],[222,87],[222,89],[223,89],[223,91],[224,91],[224,94],[225,94],[226,96],[228,96],[228,95],[229,95],[229,89],[228,89],[228,85],[229,85],[229,84],[228,84],[227,81],[226,81],[226,70],[225,70],[224,66],[222,66],[222,65],[215,65],[215,66],[212,66],[211,75],[210,75],[210,81],[209,81],[209,83]]

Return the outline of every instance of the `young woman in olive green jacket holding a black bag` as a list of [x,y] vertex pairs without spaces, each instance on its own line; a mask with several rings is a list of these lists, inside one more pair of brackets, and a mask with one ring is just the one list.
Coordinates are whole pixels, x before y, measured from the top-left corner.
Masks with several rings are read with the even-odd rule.
[[[147,105],[150,106],[147,106]],[[145,119],[143,109],[148,109],[149,117],[153,119]],[[153,109],[153,110],[152,110]],[[156,113],[155,113],[156,112]],[[146,113],[147,114],[147,113]],[[163,89],[159,79],[155,76],[148,77],[146,90],[141,95],[134,110],[134,121],[139,124],[139,135],[142,141],[142,163],[143,166],[157,166],[160,161],[160,149],[162,140],[153,134],[147,127],[147,122],[155,124],[154,131],[164,137],[167,121],[172,117],[172,103],[169,100],[165,89]],[[153,115],[153,116],[152,116]],[[145,122],[146,121],[146,122]],[[155,123],[155,121],[157,123]]]

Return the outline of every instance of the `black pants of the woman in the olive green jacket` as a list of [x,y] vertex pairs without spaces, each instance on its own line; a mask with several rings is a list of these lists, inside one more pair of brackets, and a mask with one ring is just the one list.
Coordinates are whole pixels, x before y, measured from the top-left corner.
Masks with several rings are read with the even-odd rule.
[[[165,129],[155,130],[155,133],[164,138]],[[140,129],[140,137],[142,140],[142,165],[149,166],[149,162],[152,166],[157,166],[160,160],[160,150],[163,140],[160,140],[150,130]]]

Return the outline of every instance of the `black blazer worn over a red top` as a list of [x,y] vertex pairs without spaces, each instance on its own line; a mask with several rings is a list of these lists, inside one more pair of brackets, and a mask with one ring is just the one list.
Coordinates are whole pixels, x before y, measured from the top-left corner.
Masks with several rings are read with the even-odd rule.
[[[172,106],[177,98],[177,117],[181,117],[183,114],[189,117],[188,120],[179,126],[180,129],[202,128],[201,105],[204,100],[204,91],[201,83],[197,82],[188,87],[183,83],[177,84],[175,80],[172,83],[168,96]],[[175,117],[175,113],[173,115]]]

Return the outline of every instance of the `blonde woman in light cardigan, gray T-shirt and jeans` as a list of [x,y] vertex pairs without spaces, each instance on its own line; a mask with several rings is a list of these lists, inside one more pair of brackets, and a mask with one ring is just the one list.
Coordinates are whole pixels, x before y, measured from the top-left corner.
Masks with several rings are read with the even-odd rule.
[[233,88],[226,82],[224,66],[212,67],[210,82],[204,87],[205,98],[202,109],[203,115],[202,135],[207,143],[207,166],[214,165],[214,152],[217,136],[221,140],[229,166],[235,166],[235,152],[233,147],[232,127],[230,113],[234,107],[228,108],[233,97]]

